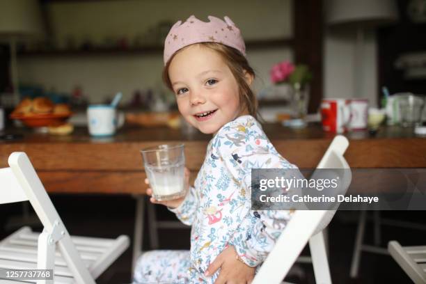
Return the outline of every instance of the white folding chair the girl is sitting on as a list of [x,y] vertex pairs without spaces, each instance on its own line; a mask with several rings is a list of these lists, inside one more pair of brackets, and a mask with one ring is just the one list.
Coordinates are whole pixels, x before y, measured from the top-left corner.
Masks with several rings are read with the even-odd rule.
[[[336,136],[317,168],[349,169],[349,165],[343,157],[348,145],[349,141],[344,136]],[[348,181],[347,187],[349,187],[352,175],[350,171],[345,171],[344,174],[345,180]],[[315,281],[322,284],[331,283],[322,230],[329,225],[335,213],[336,210],[297,210],[294,212],[292,219],[287,223],[273,250],[256,274],[253,284],[281,283],[308,242]]]

